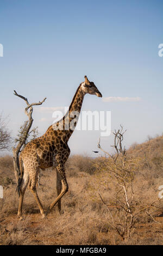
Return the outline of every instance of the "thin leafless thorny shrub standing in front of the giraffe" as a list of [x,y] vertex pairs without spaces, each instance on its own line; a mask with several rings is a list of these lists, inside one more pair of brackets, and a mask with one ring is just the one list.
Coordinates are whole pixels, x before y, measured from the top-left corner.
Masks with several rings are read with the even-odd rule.
[[[147,202],[146,206],[135,204],[136,198],[133,181],[135,170],[140,167],[140,162],[139,159],[128,157],[125,147],[122,147],[124,132],[122,126],[121,129],[118,131],[115,130],[114,132],[115,138],[112,147],[116,150],[115,155],[108,157],[103,162],[99,161],[96,164],[99,172],[103,170],[108,172],[107,184],[110,184],[111,187],[114,188],[114,196],[113,198],[106,199],[107,202],[103,199],[101,192],[99,192],[98,195],[102,203],[108,209],[110,219],[108,224],[122,237],[122,240],[129,239],[137,219],[141,218],[142,215],[147,215],[151,217],[152,221],[156,222],[150,211],[160,200],[156,199],[152,203]],[[109,153],[101,148],[99,143],[98,148],[110,156]]]

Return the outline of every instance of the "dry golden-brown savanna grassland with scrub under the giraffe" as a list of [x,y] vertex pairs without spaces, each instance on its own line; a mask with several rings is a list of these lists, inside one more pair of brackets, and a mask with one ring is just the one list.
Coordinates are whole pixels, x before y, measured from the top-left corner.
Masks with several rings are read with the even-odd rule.
[[[158,199],[158,187],[163,185],[163,136],[132,145],[127,154],[139,159],[135,168],[133,191],[134,208],[146,208]],[[129,238],[122,239],[111,227],[108,206],[115,196],[109,169],[97,168],[105,157],[91,159],[72,156],[66,164],[69,191],[61,199],[61,215],[57,206],[41,219],[33,194],[27,188],[23,204],[23,220],[17,218],[18,195],[12,157],[0,158],[0,184],[4,198],[0,199],[0,245],[163,245],[163,199],[152,208],[151,215],[141,214]],[[37,188],[45,209],[52,203],[56,192],[56,171],[42,172]],[[121,220],[120,220],[121,221]]]

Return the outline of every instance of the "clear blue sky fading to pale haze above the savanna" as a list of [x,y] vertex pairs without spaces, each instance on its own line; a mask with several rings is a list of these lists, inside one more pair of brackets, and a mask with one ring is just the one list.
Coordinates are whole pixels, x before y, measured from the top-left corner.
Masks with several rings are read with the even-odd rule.
[[[162,133],[163,2],[160,1],[3,1],[0,6],[1,110],[9,115],[13,136],[26,120],[25,103],[34,108],[40,136],[51,125],[49,107],[69,106],[84,75],[103,97],[140,97],[139,101],[103,101],[86,95],[84,111],[111,111],[111,129],[122,124],[126,146]],[[72,154],[93,156],[99,131],[74,131]],[[112,137],[103,137],[109,149]]]

